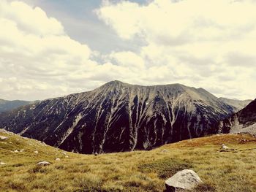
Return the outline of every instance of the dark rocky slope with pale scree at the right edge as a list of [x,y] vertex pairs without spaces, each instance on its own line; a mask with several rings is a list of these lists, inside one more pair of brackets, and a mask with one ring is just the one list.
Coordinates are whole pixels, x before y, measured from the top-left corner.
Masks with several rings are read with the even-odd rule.
[[256,134],[256,99],[219,123],[220,133]]

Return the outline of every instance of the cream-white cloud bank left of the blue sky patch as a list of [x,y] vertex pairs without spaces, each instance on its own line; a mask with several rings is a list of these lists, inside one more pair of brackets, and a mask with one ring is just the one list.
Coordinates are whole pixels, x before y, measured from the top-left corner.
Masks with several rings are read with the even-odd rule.
[[1,1],[0,26],[0,98],[47,99],[129,74],[124,66],[97,64],[94,51],[71,39],[39,7]]

